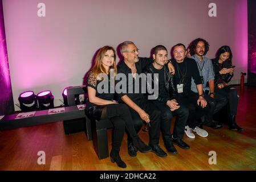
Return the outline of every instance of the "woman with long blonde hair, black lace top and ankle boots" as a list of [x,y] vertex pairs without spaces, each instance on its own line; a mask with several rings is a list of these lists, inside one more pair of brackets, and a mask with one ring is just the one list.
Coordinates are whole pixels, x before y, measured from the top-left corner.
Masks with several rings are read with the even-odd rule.
[[[113,73],[113,74],[111,74]],[[113,123],[113,140],[112,150],[110,152],[111,162],[117,163],[117,166],[125,168],[126,164],[121,160],[119,151],[123,140],[124,131],[127,129],[132,137],[133,145],[141,152],[151,151],[151,147],[147,146],[137,135],[133,126],[132,117],[129,113],[128,106],[125,104],[117,104],[113,101],[114,93],[110,92],[111,88],[115,88],[114,77],[116,76],[116,51],[110,46],[100,48],[96,55],[95,65],[88,74],[87,89],[88,100],[86,105],[86,114],[95,119],[108,118]],[[97,85],[107,81],[108,88],[97,88]],[[103,84],[104,86],[104,84]],[[103,93],[99,92],[103,90]]]

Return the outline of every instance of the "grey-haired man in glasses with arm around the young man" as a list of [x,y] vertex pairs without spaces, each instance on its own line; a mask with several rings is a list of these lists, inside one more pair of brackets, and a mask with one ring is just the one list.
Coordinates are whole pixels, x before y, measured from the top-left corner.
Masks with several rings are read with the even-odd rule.
[[[143,126],[143,121],[149,123],[149,146],[152,147],[152,152],[160,157],[165,157],[167,154],[159,146],[160,137],[160,110],[147,98],[145,98],[144,93],[141,92],[141,82],[136,85],[136,79],[139,79],[143,69],[147,65],[152,63],[152,59],[139,57],[139,49],[133,42],[123,42],[120,46],[121,54],[124,59],[119,65],[117,65],[117,73],[123,73],[127,77],[127,88],[126,92],[119,93],[121,98],[119,101],[124,102],[129,106],[129,111],[131,112],[133,125],[135,130],[139,133],[141,126]],[[169,69],[173,69],[172,64],[168,64]],[[143,73],[144,74],[144,73]],[[128,82],[129,75],[132,75],[132,84]],[[130,84],[130,85],[129,85]],[[133,92],[129,92],[129,87],[133,88]],[[139,93],[135,92],[136,87],[139,87]],[[128,154],[130,156],[136,156],[137,150],[132,144],[132,139],[128,135]]]

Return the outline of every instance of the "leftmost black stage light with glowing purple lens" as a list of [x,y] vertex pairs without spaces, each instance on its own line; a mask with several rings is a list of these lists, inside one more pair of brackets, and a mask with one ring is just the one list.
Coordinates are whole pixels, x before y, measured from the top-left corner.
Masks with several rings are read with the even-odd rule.
[[35,94],[32,91],[26,91],[19,94],[19,105],[22,111],[36,110]]

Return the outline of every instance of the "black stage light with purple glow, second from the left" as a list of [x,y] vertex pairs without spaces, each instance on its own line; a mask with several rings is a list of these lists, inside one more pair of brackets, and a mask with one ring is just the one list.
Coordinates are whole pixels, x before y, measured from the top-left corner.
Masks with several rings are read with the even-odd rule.
[[40,110],[54,108],[54,96],[52,96],[50,90],[38,93],[36,98],[38,100],[38,107]]

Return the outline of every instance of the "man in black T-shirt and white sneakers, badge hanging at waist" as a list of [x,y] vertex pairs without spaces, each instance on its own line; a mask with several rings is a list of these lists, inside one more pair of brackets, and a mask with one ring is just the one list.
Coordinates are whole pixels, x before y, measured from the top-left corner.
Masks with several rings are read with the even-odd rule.
[[[189,138],[207,137],[208,132],[198,127],[198,119],[209,111],[209,106],[204,98],[202,81],[197,69],[196,61],[186,57],[186,47],[178,43],[173,46],[172,63],[176,69],[174,75],[178,92],[178,103],[189,109],[189,116],[185,126],[185,133]],[[196,92],[191,90],[191,82],[196,85]],[[194,131],[194,133],[192,133]]]

